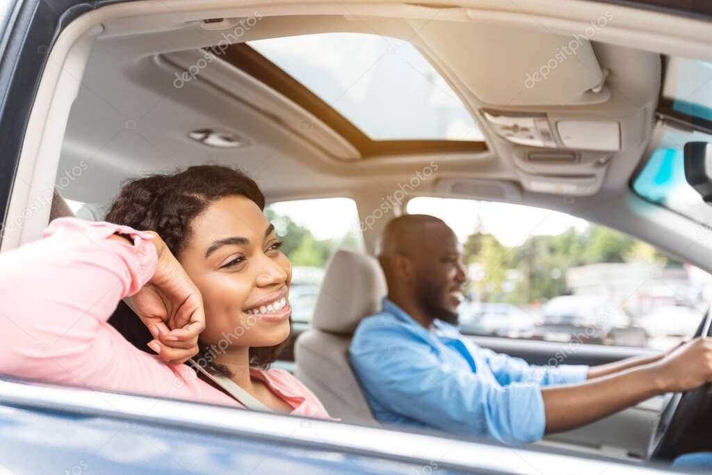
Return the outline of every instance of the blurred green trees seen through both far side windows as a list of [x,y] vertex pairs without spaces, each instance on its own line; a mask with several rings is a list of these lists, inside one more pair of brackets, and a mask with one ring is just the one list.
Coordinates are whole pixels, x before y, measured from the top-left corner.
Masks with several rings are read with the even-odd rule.
[[[309,229],[267,208],[267,218],[283,236],[282,251],[293,266],[323,267],[340,246],[358,244],[347,234],[341,239],[315,239]],[[466,265],[478,264],[484,273],[469,283],[481,301],[528,305],[569,292],[566,271],[590,263],[642,260],[651,265],[679,265],[653,246],[601,226],[578,232],[569,228],[556,236],[529,236],[518,246],[503,246],[492,234],[476,232],[464,243]]]

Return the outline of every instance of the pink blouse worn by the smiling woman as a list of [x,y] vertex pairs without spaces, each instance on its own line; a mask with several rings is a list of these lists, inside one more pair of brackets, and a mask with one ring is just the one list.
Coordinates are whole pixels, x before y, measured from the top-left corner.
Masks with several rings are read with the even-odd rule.
[[[115,231],[132,235],[135,244],[107,239]],[[151,234],[62,218],[42,236],[0,255],[1,374],[243,407],[187,365],[138,350],[107,323],[120,299],[136,293],[155,271],[156,250],[145,241]],[[252,373],[294,408],[291,414],[329,418],[289,372]]]

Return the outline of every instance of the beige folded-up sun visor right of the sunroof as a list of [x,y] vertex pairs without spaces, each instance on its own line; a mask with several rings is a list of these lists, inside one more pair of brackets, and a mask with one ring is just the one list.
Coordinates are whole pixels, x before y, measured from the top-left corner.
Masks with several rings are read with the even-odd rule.
[[[603,18],[605,20],[605,18]],[[458,21],[409,21],[434,60],[484,103],[584,105],[610,97],[590,38]],[[446,67],[444,65],[447,65]]]

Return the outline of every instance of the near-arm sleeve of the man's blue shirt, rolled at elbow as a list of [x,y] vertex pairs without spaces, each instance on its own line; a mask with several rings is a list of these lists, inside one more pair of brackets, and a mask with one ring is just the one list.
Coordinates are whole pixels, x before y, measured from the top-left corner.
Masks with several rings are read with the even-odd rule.
[[544,402],[538,386],[500,386],[476,373],[456,371],[402,325],[364,320],[350,351],[365,390],[391,412],[436,429],[501,442],[543,437]]

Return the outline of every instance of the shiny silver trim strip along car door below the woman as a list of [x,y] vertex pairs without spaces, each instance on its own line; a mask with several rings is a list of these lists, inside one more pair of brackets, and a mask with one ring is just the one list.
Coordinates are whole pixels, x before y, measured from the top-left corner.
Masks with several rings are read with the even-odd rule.
[[[486,439],[449,434],[426,434],[412,429],[367,427],[324,419],[256,412],[238,407],[172,400],[120,392],[60,387],[16,379],[0,380],[0,407],[18,407],[41,412],[106,417],[156,427],[221,434],[286,447],[333,451],[374,459],[429,466],[436,460],[441,469],[540,474],[540,466],[580,466],[611,474],[665,474],[655,466],[603,456],[567,453],[548,447],[511,447]],[[160,402],[158,404],[157,402]],[[146,408],[149,408],[147,411]],[[121,409],[118,409],[121,408]],[[239,412],[236,412],[239,411]],[[308,427],[295,431],[295,427]],[[384,443],[399,441],[398,444]],[[457,444],[457,449],[453,449]],[[516,456],[512,456],[512,455]],[[528,464],[522,464],[526,460]]]

